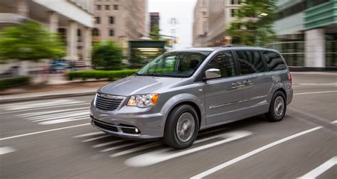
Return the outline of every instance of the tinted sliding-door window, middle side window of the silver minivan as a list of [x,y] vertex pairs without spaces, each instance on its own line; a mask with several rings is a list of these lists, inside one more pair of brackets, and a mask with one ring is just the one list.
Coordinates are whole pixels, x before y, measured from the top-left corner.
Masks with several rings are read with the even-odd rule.
[[264,72],[264,65],[259,51],[236,51],[241,74]]

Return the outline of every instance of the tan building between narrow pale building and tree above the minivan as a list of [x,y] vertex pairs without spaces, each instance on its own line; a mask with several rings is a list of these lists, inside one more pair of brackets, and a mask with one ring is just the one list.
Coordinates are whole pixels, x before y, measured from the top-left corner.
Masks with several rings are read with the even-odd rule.
[[[205,1],[205,0],[204,0]],[[231,38],[225,32],[240,7],[240,0],[208,0],[208,46],[228,45]]]

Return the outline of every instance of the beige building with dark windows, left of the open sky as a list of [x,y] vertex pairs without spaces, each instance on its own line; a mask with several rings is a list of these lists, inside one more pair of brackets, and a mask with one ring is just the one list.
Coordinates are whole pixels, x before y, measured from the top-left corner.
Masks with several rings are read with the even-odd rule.
[[147,0],[94,0],[92,40],[119,42],[127,55],[128,41],[147,36]]

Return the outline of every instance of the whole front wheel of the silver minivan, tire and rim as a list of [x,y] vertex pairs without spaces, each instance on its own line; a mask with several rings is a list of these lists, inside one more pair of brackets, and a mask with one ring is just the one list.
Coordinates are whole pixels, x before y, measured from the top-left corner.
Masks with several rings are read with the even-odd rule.
[[196,140],[198,131],[196,109],[183,104],[170,112],[165,125],[164,141],[173,148],[188,148]]

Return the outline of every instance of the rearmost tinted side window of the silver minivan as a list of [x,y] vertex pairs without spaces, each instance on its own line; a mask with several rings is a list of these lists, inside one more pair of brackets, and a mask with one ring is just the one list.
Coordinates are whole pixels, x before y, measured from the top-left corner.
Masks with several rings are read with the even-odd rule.
[[266,58],[267,67],[269,70],[284,70],[287,69],[287,65],[284,63],[281,55],[273,51],[262,51]]

